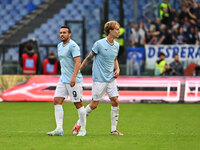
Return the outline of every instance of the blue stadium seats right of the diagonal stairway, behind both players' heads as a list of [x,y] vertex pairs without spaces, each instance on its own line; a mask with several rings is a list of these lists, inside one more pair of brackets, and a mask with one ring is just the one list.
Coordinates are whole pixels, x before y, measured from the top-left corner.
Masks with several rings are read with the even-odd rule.
[[[42,24],[39,28],[36,28],[33,33],[29,33],[28,36],[21,41],[23,42],[27,39],[36,38],[39,44],[57,44],[60,41],[58,37],[59,27],[64,24],[64,21],[83,20],[83,16],[85,16],[87,33],[86,47],[89,51],[92,44],[100,38],[100,9],[103,8],[103,0],[85,0],[82,3],[83,5],[80,5],[81,2],[81,0],[76,0],[70,4],[66,4],[65,8],[62,8],[59,13],[55,14],[52,18],[49,18],[46,23]],[[119,2],[111,0],[109,3],[110,6],[112,6],[109,9],[109,20],[119,21]],[[132,1],[124,1],[125,26],[128,26],[128,20],[133,20],[132,6]],[[81,25],[73,24],[72,26],[72,24],[69,24],[69,26],[72,28],[72,39],[76,39],[79,45],[82,46],[80,38],[82,34],[82,31],[80,30]],[[48,32],[46,32],[47,28]]]

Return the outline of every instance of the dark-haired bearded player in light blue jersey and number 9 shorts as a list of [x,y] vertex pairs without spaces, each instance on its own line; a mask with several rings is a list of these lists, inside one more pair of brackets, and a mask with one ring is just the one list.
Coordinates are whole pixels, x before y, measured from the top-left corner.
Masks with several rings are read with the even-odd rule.
[[54,95],[54,109],[57,128],[48,132],[51,136],[63,135],[63,107],[62,103],[65,98],[70,97],[71,102],[77,108],[80,130],[77,136],[85,136],[86,133],[86,110],[82,104],[82,81],[83,77],[80,73],[81,58],[79,46],[70,39],[71,31],[67,26],[60,28],[60,40],[58,44],[58,57],[61,65],[61,77],[57,84]]

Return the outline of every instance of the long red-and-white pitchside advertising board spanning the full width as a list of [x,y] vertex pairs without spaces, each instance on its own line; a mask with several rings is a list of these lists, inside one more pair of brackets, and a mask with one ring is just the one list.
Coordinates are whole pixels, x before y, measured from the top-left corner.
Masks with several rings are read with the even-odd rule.
[[[23,78],[22,78],[23,77]],[[0,76],[1,101],[52,102],[59,76]],[[15,81],[12,81],[15,79]],[[15,82],[9,85],[7,82]],[[121,103],[197,103],[200,102],[200,78],[198,77],[119,77],[119,102]],[[84,76],[83,101],[92,95],[92,78]],[[65,101],[69,101],[66,99]],[[105,95],[102,102],[109,102]]]

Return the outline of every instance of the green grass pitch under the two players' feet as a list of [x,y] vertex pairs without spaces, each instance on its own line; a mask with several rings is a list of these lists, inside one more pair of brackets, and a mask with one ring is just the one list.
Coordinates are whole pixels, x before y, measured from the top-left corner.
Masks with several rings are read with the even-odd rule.
[[[85,104],[86,105],[86,104]],[[78,118],[64,103],[64,136],[55,129],[52,103],[0,103],[0,150],[199,150],[199,104],[120,104],[119,131],[110,135],[110,104],[99,104],[87,119],[87,136],[72,135]]]

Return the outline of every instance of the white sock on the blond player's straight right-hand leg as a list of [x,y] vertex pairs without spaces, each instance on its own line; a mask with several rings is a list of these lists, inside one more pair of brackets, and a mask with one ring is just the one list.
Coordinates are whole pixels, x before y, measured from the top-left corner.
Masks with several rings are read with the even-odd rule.
[[111,106],[111,131],[116,130],[118,118],[119,118],[119,107]]

